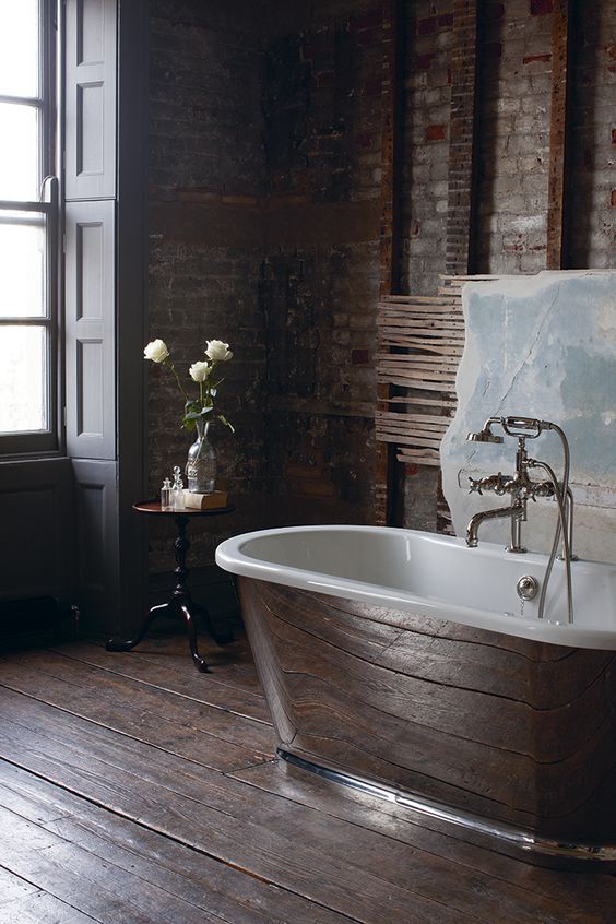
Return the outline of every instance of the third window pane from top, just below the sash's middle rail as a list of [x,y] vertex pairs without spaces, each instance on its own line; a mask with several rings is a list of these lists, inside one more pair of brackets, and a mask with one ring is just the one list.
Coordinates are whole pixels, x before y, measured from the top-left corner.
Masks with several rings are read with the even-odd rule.
[[[11,215],[15,217],[15,213]],[[42,318],[45,305],[45,224],[12,224],[0,212],[0,318]]]

